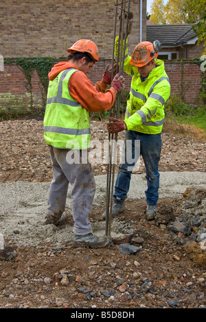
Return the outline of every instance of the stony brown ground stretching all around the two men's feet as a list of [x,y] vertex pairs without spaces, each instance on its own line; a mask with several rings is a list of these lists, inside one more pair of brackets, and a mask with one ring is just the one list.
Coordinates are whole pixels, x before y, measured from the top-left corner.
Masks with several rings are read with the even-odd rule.
[[[70,205],[58,227],[41,225],[52,179],[43,121],[3,121],[0,128],[0,308],[206,307],[205,239],[200,239],[206,236],[202,134],[200,138],[187,128],[180,134],[165,127],[159,171],[192,173],[198,179],[176,195],[162,195],[155,221],[146,220],[146,201],[137,194],[128,198],[126,210],[111,223],[117,234],[108,247],[75,249],[69,238],[55,238],[71,233]],[[104,121],[91,121],[91,129],[93,140],[108,139]],[[119,134],[119,140],[123,136]],[[134,172],[144,177],[142,160]],[[102,195],[95,199],[90,221],[97,230],[103,227],[104,234],[106,187],[101,176],[106,175],[106,164],[93,164],[93,173],[102,182],[97,191]],[[42,214],[35,223],[38,207]],[[192,218],[190,230],[183,218]],[[27,235],[22,236],[25,228]]]

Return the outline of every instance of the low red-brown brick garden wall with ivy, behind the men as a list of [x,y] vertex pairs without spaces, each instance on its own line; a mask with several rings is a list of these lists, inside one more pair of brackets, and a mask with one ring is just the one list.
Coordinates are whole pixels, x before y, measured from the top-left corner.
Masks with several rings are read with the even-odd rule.
[[[101,79],[106,64],[111,60],[100,60],[93,66],[89,73],[91,82],[95,84]],[[171,84],[171,96],[178,95],[181,97],[181,83],[185,95],[185,103],[198,105],[199,94],[201,89],[201,69],[189,60],[181,64],[179,60],[165,61],[165,71],[168,73]],[[184,76],[181,79],[181,76]],[[124,73],[126,78],[125,90],[130,88],[131,77]],[[42,103],[41,90],[39,87],[38,75],[35,72],[32,77],[32,95],[34,104]],[[30,102],[30,96],[25,89],[25,77],[18,66],[14,64],[5,64],[4,71],[0,71],[0,108],[5,106],[27,104]]]

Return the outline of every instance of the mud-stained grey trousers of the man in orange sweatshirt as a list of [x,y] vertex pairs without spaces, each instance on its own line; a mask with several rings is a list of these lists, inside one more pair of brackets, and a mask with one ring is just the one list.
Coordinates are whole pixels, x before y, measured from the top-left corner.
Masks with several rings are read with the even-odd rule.
[[[95,179],[91,164],[82,163],[82,151],[78,153],[77,161],[72,164],[67,153],[68,149],[56,149],[49,146],[54,177],[49,188],[48,207],[46,216],[54,221],[60,219],[65,210],[67,191],[71,184],[71,205],[73,211],[73,233],[85,235],[92,233],[89,222],[89,212],[95,195]],[[85,153],[85,151],[84,151]],[[87,158],[88,160],[88,158]],[[84,158],[85,162],[85,158]]]

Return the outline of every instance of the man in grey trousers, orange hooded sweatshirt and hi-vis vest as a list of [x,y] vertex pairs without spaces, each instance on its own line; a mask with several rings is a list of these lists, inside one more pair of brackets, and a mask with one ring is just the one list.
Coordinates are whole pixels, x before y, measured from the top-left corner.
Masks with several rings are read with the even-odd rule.
[[49,73],[44,138],[54,177],[44,225],[60,223],[71,184],[73,245],[99,248],[108,245],[108,238],[94,236],[89,221],[95,195],[95,180],[87,156],[91,140],[89,112],[109,110],[124,86],[124,77],[115,75],[115,66],[110,69],[106,66],[102,79],[93,86],[87,74],[99,60],[98,47],[91,40],[81,39],[67,51],[68,61],[55,64]]

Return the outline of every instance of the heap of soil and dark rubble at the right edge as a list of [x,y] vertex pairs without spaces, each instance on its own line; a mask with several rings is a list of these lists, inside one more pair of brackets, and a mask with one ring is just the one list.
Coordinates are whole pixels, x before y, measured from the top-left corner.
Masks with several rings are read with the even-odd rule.
[[166,225],[173,240],[183,245],[194,262],[206,265],[206,190],[187,188],[183,193],[181,212],[174,216],[174,211],[167,204],[158,208],[155,220]]

